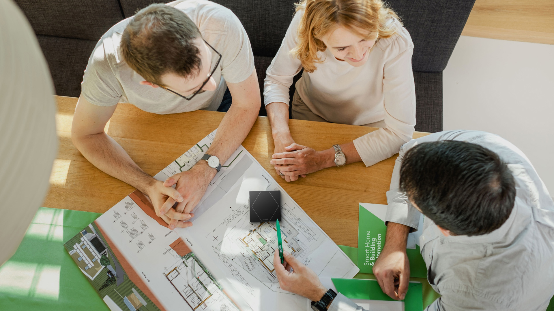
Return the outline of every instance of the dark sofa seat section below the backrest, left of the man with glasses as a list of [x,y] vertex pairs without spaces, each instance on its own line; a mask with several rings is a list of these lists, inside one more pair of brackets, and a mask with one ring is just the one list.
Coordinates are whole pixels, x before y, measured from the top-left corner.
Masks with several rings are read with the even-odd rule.
[[81,81],[96,40],[37,35],[57,95],[79,97]]

